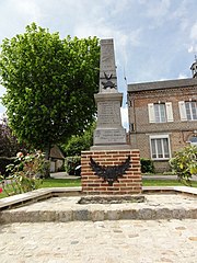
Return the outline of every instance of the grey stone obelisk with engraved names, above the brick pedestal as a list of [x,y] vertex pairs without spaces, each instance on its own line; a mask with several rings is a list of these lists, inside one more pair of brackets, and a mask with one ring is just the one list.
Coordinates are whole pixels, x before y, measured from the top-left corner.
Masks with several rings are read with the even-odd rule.
[[101,41],[100,92],[94,99],[97,123],[91,150],[129,149],[126,129],[121,126],[123,93],[117,90],[113,39]]

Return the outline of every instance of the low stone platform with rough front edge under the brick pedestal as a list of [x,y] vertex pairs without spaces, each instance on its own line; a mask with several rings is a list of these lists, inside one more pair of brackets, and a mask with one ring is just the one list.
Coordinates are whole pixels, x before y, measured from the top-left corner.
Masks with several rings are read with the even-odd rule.
[[[80,205],[78,204],[80,196],[51,197],[19,208],[1,210],[0,224],[120,219],[197,219],[197,190],[190,193],[190,187],[187,188],[187,192],[186,187],[182,188],[179,186],[175,187],[174,193],[146,193],[143,194],[146,198],[143,203]],[[162,187],[160,187],[160,191],[162,191]],[[62,188],[59,192],[62,192]]]

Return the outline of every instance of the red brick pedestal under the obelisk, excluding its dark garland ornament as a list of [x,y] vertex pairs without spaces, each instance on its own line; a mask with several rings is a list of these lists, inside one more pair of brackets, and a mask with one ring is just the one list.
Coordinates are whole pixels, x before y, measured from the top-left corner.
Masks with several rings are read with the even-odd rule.
[[[112,186],[103,182],[90,165],[92,157],[100,165],[118,165],[126,161],[130,156],[130,167],[119,182],[114,182]],[[102,150],[82,151],[81,153],[81,182],[82,193],[86,195],[128,195],[140,194],[142,190],[142,179],[140,170],[139,150]]]

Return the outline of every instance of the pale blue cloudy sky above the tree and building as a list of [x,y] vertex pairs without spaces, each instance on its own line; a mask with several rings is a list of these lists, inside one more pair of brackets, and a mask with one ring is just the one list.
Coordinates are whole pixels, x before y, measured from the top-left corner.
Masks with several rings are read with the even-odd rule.
[[[0,0],[0,43],[35,22],[60,37],[114,38],[121,118],[127,84],[192,78],[197,55],[196,0]],[[5,92],[0,87],[0,96]],[[0,115],[5,108],[0,103]]]

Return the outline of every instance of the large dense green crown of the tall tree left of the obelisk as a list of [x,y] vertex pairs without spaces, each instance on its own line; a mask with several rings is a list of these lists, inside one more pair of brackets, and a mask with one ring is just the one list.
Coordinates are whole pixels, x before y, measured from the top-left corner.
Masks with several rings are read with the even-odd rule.
[[96,37],[60,39],[26,26],[3,41],[0,55],[3,104],[20,140],[49,153],[50,146],[82,133],[95,115],[100,46]]

